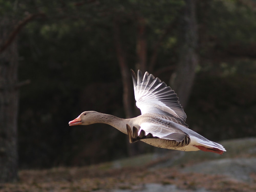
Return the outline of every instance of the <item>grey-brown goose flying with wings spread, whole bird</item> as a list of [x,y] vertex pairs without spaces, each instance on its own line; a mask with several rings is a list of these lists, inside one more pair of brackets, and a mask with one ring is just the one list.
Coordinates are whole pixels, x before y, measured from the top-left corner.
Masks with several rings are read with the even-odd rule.
[[176,93],[159,78],[133,70],[132,79],[136,106],[141,115],[121,119],[96,111],[85,111],[69,122],[73,125],[109,124],[128,134],[130,143],[141,140],[147,144],[181,151],[208,151],[222,154],[225,148],[188,128],[186,114]]

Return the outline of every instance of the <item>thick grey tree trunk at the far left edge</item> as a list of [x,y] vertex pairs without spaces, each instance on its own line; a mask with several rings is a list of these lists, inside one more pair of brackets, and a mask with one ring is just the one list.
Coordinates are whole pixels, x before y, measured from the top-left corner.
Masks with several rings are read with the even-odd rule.
[[[9,19],[0,19],[0,40],[8,38],[11,26]],[[17,180],[17,70],[18,50],[14,39],[0,54],[0,183]]]

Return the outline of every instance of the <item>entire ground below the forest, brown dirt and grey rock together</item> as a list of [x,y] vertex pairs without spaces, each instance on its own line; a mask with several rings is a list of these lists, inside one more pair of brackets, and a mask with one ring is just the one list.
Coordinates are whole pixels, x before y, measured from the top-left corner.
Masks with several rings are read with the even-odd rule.
[[90,167],[21,170],[4,191],[256,191],[256,138],[220,142],[227,152],[163,150]]

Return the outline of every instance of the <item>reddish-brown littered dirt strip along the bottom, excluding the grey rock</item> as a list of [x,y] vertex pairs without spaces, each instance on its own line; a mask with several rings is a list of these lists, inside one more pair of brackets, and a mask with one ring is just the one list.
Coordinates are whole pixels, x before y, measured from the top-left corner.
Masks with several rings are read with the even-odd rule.
[[[45,170],[21,170],[17,183],[0,184],[0,192],[44,191],[111,191],[134,189],[146,183],[174,184],[180,189],[193,191],[205,188],[212,191],[256,191],[255,182],[246,183],[223,175],[180,173],[179,167],[151,169],[152,164],[130,168],[59,167]],[[184,165],[186,166],[186,165]]]

